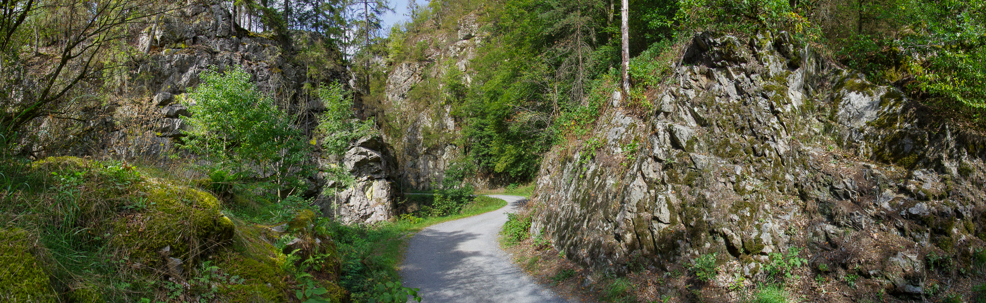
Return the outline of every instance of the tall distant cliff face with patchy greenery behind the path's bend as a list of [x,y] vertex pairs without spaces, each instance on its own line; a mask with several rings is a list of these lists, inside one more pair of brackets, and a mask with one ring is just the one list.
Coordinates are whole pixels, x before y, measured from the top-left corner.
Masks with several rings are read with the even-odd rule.
[[[462,83],[471,83],[469,60],[487,34],[479,30],[476,16],[466,15],[458,20],[454,31],[441,31],[430,21],[426,31],[438,34],[409,38],[409,43],[424,46],[420,57],[410,57],[397,63],[387,74],[386,100],[382,108],[400,125],[387,142],[396,151],[400,186],[407,189],[432,189],[445,180],[445,172],[461,157],[454,144],[458,137],[457,121],[450,106],[436,100],[414,96],[412,90],[442,90],[443,79],[452,69],[458,69]],[[437,97],[437,96],[431,96]],[[484,183],[476,181],[476,186]]]

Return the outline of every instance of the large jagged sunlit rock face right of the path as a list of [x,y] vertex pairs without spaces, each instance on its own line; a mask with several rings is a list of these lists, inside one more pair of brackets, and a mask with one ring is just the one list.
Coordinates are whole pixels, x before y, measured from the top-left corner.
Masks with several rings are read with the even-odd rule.
[[718,253],[722,275],[759,277],[769,254],[806,248],[805,270],[918,295],[951,276],[933,257],[969,265],[986,244],[986,137],[787,34],[697,36],[651,93],[653,111],[610,109],[545,156],[531,232],[570,260],[668,269]]

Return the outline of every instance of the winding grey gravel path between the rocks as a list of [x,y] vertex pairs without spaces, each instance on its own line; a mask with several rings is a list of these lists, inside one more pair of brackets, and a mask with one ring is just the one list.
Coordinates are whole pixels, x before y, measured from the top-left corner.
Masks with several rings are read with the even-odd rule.
[[506,212],[516,211],[525,197],[490,196],[507,206],[432,225],[411,238],[400,266],[403,285],[421,288],[421,302],[569,302],[514,265],[497,242]]

